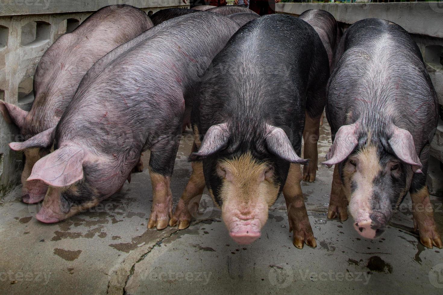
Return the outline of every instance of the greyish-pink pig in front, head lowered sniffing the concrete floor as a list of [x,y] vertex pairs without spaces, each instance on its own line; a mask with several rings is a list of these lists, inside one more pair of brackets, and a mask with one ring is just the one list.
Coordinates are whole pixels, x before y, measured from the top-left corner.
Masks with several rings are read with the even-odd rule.
[[[54,128],[54,152],[28,180],[49,185],[41,222],[58,222],[117,192],[140,153],[150,149],[153,188],[148,228],[172,216],[170,189],[186,101],[212,58],[237,31],[224,15],[202,11],[170,19],[101,58]],[[39,147],[47,138],[24,142]]]

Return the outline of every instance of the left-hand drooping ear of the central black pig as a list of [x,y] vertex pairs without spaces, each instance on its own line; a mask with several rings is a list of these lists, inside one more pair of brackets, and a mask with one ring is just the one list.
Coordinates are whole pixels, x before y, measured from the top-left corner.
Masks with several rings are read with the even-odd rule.
[[212,125],[206,132],[202,141],[202,146],[197,153],[192,153],[191,161],[198,160],[198,158],[205,158],[224,149],[229,140],[229,131],[226,123]]

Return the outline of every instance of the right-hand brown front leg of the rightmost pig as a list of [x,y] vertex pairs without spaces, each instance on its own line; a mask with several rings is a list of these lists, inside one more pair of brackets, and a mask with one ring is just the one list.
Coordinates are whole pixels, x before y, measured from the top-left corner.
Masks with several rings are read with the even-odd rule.
[[426,184],[418,190],[412,189],[411,199],[414,230],[418,229],[420,243],[429,249],[432,249],[432,245],[441,249],[443,244],[437,227],[435,226],[434,210],[429,200],[429,192]]

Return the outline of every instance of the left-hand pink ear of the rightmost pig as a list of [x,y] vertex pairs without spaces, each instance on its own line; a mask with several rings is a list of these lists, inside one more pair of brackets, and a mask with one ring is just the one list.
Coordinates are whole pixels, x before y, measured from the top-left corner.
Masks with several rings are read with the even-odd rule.
[[341,126],[335,134],[334,143],[326,154],[327,161],[322,164],[331,167],[344,161],[358,144],[356,131],[355,123]]

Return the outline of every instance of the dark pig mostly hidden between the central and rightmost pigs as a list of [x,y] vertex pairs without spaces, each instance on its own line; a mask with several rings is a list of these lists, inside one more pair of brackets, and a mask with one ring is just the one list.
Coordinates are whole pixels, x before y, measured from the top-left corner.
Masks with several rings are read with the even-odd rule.
[[334,16],[321,9],[309,9],[299,15],[299,18],[309,23],[319,34],[328,54],[329,70],[332,72],[335,49],[342,37],[342,30],[338,27]]

